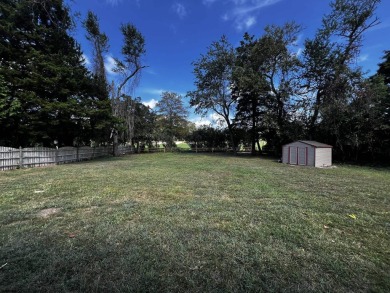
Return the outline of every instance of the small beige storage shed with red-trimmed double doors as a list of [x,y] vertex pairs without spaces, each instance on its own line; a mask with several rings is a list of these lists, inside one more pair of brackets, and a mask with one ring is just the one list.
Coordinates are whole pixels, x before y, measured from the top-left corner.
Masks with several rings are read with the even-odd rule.
[[298,140],[283,146],[282,162],[300,166],[331,166],[332,146],[317,141]]

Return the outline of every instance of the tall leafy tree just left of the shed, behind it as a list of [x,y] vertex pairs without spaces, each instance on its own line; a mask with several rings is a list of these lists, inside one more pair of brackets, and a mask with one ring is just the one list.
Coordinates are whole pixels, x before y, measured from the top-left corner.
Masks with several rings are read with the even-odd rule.
[[262,136],[275,150],[281,149],[282,144],[290,140],[286,130],[294,119],[293,97],[300,92],[301,70],[293,48],[301,30],[301,26],[294,22],[267,26],[254,50],[258,58],[259,78],[266,83],[263,89],[269,88],[268,94],[263,90],[265,115]]

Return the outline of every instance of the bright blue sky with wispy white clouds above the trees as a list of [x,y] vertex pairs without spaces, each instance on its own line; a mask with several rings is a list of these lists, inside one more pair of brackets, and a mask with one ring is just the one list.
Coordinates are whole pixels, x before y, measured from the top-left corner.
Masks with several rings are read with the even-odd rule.
[[[256,37],[266,25],[282,25],[295,21],[304,27],[297,50],[311,38],[321,25],[322,16],[330,11],[330,0],[69,0],[73,13],[85,19],[92,10],[100,27],[110,39],[106,56],[110,79],[112,57],[120,57],[122,36],[120,25],[133,23],[146,40],[144,70],[139,86],[132,96],[154,106],[161,92],[185,95],[194,89],[191,62],[206,53],[207,46],[226,35],[237,46],[245,32]],[[358,65],[371,74],[381,62],[384,50],[390,50],[390,0],[382,0],[377,10],[381,24],[365,34]],[[86,59],[92,58],[85,32],[78,27],[74,33]],[[199,117],[190,119],[199,123]],[[203,118],[208,123],[211,117]]]

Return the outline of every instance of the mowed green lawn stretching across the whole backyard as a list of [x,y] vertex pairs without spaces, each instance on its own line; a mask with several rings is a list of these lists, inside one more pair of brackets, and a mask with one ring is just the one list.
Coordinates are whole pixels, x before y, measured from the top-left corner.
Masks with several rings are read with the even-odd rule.
[[389,169],[145,154],[0,194],[0,291],[390,291]]

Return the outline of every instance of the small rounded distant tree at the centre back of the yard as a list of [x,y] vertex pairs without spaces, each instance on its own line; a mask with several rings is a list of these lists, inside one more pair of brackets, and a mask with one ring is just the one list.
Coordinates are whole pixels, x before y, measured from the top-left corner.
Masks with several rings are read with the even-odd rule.
[[188,111],[183,105],[182,97],[173,92],[164,92],[156,105],[156,111],[160,115],[163,139],[168,148],[174,146],[175,138],[184,138],[187,128]]

